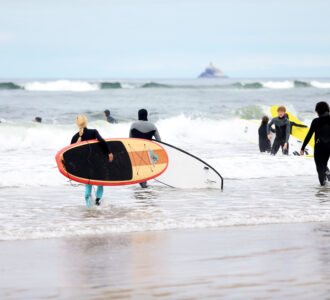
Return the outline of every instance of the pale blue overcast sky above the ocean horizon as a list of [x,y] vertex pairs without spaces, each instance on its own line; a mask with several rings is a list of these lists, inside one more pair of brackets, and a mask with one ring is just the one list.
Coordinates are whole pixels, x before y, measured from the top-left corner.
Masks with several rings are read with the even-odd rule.
[[0,0],[1,78],[330,77],[330,0]]

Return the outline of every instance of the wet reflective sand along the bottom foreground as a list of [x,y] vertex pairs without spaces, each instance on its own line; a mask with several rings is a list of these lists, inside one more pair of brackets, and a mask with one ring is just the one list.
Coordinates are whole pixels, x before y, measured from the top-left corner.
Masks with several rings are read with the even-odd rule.
[[326,299],[330,224],[0,242],[0,299]]

